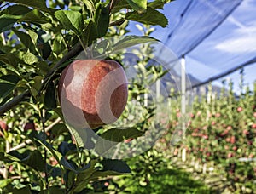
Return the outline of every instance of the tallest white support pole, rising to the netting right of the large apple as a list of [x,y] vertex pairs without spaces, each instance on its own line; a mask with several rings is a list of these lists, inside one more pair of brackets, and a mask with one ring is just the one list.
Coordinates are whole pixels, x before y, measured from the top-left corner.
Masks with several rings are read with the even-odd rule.
[[[186,139],[185,132],[186,132],[186,63],[184,56],[181,59],[181,113],[182,113],[182,130],[183,130],[183,141]],[[182,151],[182,161],[186,161],[186,149],[183,147]]]

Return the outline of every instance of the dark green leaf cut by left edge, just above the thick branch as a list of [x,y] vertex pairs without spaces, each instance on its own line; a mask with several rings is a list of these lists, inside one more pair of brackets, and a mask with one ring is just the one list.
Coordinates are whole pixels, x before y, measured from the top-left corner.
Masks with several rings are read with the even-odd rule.
[[6,75],[0,77],[0,102],[15,89],[20,77],[15,75]]

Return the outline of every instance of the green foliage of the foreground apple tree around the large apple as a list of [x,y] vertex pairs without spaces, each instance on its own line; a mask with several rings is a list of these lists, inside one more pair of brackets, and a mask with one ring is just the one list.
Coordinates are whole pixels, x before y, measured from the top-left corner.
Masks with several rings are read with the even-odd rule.
[[[84,149],[90,140],[73,135],[67,126],[58,83],[63,69],[81,52],[101,54],[102,49],[113,52],[155,42],[149,36],[126,36],[129,22],[165,27],[167,19],[160,9],[169,2],[0,2],[1,191],[84,193],[94,189],[96,180],[131,174],[123,160],[95,156]],[[108,38],[111,46],[105,41]],[[124,53],[111,55],[112,60],[122,59]],[[157,73],[154,68],[147,71]],[[102,127],[95,132],[117,142],[144,133],[139,128],[128,128],[125,133],[112,128],[104,133]]]

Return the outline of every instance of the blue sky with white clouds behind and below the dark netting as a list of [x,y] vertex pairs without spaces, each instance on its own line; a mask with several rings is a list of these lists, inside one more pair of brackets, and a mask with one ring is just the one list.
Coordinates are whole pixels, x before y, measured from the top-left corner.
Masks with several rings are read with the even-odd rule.
[[[235,1],[235,0],[234,0]],[[239,0],[238,0],[239,1]],[[163,13],[169,20],[166,28],[156,27],[153,37],[160,39],[170,48],[185,48],[186,38],[193,41],[196,35],[214,25],[218,16],[222,16],[229,8],[231,0],[221,0],[216,3],[212,0],[197,0],[194,9],[187,11],[182,22],[185,24],[178,29],[166,42],[166,37],[180,22],[180,14],[185,9],[189,0],[176,0],[166,4]],[[212,11],[212,15],[209,14]],[[209,17],[209,18],[207,18]],[[208,37],[204,39],[194,50],[185,55],[186,71],[201,81],[229,70],[234,66],[239,66],[256,56],[256,1],[244,0],[241,4],[221,23]],[[205,22],[205,23],[204,23]],[[201,24],[203,24],[201,26]],[[205,29],[206,28],[206,29]],[[133,33],[137,31],[132,28]],[[184,42],[183,42],[184,41]],[[180,45],[179,45],[180,44]],[[244,68],[245,84],[253,89],[253,82],[256,80],[256,64]],[[232,80],[236,93],[240,92],[239,71],[227,77],[220,78],[213,82],[221,85],[221,82]]]

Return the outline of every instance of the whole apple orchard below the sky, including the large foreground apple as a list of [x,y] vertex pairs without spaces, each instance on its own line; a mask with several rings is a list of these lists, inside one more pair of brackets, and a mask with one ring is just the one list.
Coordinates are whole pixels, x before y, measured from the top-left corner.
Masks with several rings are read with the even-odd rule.
[[256,85],[195,96],[184,121],[150,37],[166,3],[0,2],[1,193],[253,193]]

